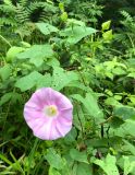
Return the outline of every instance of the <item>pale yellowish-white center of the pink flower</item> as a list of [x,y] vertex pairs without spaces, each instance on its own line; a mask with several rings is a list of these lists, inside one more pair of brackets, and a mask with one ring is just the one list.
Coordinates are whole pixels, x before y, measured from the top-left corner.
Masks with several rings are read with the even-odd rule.
[[58,115],[58,108],[54,105],[46,106],[44,113],[48,117],[54,117]]

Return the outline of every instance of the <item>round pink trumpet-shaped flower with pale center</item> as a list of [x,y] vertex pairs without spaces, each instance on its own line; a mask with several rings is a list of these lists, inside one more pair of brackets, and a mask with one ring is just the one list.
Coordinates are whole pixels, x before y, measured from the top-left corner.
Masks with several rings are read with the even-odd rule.
[[42,140],[64,137],[72,128],[73,105],[70,100],[52,90],[37,90],[24,106],[24,118],[34,135]]

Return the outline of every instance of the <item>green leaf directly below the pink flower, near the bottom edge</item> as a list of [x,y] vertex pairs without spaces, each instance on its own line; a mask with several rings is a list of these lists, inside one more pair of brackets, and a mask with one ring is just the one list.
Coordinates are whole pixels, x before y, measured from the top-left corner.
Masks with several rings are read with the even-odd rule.
[[57,170],[62,170],[66,164],[65,160],[62,159],[52,148],[48,149],[47,155],[45,158],[50,166]]

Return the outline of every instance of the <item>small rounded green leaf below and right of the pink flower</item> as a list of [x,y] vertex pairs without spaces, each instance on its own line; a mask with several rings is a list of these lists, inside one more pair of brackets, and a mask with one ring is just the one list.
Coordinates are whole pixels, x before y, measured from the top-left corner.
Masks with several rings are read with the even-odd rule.
[[76,149],[71,149],[70,155],[73,160],[75,160],[77,162],[88,163],[86,151],[79,152]]

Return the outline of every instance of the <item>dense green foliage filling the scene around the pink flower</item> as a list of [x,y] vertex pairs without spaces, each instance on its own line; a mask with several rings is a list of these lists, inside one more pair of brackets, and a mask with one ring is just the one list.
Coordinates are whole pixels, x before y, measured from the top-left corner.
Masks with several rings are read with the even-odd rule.
[[[101,23],[112,1],[0,4],[1,175],[135,174],[135,20],[126,8],[116,27],[110,15]],[[47,86],[74,107],[72,130],[54,141],[35,139],[23,117]]]

